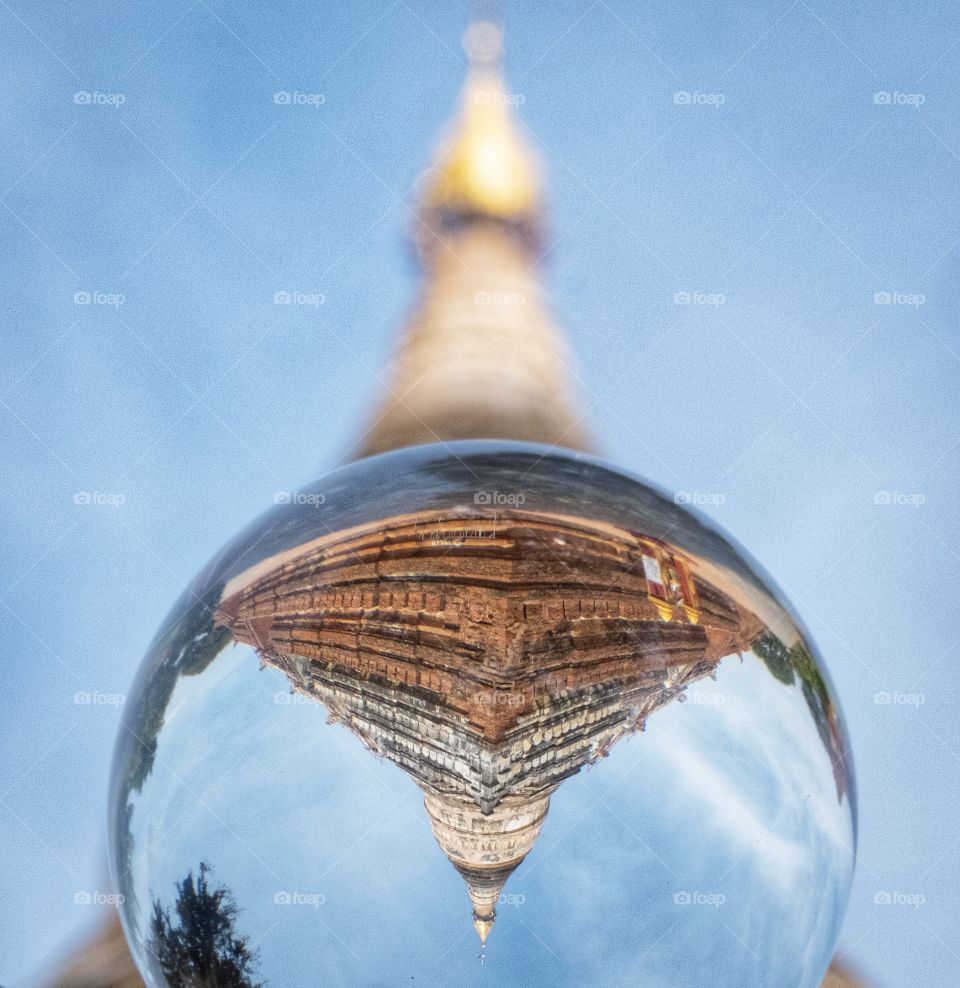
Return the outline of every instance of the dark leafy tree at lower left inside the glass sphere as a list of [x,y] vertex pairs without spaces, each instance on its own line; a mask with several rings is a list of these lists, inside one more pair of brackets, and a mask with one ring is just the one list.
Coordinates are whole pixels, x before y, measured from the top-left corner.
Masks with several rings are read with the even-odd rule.
[[257,953],[235,930],[237,907],[224,886],[212,887],[210,865],[201,862],[177,883],[174,906],[153,900],[149,949],[171,988],[263,988],[256,976]]

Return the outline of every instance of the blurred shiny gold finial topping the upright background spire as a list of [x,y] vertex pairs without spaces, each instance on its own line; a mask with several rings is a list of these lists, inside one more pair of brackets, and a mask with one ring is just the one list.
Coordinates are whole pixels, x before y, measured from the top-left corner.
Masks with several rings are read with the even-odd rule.
[[535,220],[540,209],[539,169],[513,119],[521,97],[504,89],[503,35],[491,21],[467,29],[470,69],[460,114],[427,176],[424,208],[441,215]]

